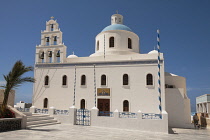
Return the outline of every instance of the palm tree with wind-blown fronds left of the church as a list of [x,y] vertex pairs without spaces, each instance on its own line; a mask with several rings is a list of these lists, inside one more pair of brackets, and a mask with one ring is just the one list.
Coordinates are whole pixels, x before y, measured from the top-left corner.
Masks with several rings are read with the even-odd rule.
[[9,93],[11,90],[19,87],[21,84],[25,82],[35,82],[35,79],[32,77],[22,77],[22,75],[26,72],[33,71],[33,67],[29,66],[26,67],[21,60],[17,61],[12,70],[9,72],[8,75],[3,75],[6,81],[5,86],[3,87],[4,90],[4,100],[2,105],[0,106],[0,115],[4,116],[7,106],[7,101],[9,97]]

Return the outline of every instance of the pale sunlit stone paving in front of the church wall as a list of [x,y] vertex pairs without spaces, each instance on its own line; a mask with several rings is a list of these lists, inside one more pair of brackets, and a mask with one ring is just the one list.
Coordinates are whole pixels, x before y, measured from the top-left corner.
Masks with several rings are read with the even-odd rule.
[[160,134],[92,126],[57,124],[0,133],[0,140],[210,140],[210,129],[178,129]]

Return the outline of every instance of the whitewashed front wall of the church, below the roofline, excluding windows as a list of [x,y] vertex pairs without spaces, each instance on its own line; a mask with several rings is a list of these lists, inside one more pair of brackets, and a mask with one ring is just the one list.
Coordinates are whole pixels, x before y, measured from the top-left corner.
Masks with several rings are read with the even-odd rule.
[[[92,66],[77,66],[76,77],[76,107],[80,108],[81,99],[85,99],[86,108],[91,109],[94,104],[94,73]],[[146,86],[146,75],[153,74],[154,86]],[[162,69],[163,73],[163,69]],[[86,75],[87,85],[81,86],[81,75]],[[106,74],[107,85],[101,86],[101,75]],[[123,74],[129,75],[129,85],[123,86]],[[44,77],[49,76],[49,86],[44,85]],[[67,75],[67,86],[62,86],[62,76]],[[74,66],[45,67],[35,69],[36,83],[34,84],[33,105],[43,108],[44,98],[48,98],[49,107],[67,109],[73,105],[74,94]],[[162,88],[164,88],[162,76]],[[132,64],[132,65],[96,65],[96,87],[110,88],[110,96],[97,98],[110,99],[110,111],[118,109],[123,111],[123,101],[129,101],[129,111],[141,110],[145,113],[159,113],[159,100],[157,90],[157,65]],[[164,91],[164,90],[163,90]],[[165,108],[164,92],[162,93],[163,110]]]

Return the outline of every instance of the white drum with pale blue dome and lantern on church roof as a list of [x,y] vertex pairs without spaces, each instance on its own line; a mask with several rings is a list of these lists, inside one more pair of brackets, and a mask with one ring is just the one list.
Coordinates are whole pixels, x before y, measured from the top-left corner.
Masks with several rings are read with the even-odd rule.
[[139,54],[139,37],[122,25],[123,16],[112,15],[111,23],[96,36],[95,53],[90,56]]

